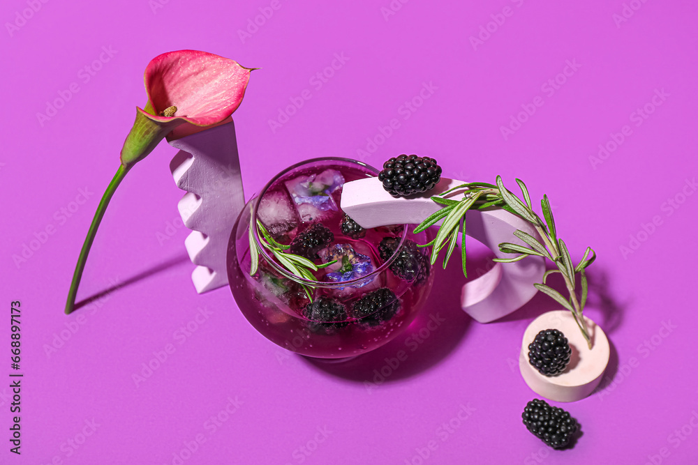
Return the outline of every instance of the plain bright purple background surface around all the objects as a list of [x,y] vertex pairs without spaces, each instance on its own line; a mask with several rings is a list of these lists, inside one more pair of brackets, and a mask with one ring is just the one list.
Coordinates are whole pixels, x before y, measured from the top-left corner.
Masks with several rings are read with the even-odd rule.
[[[21,457],[8,451],[10,390],[0,382],[0,462],[172,464],[189,444],[186,464],[695,463],[698,5],[447,3],[3,2],[0,379],[10,372],[11,300],[22,301],[25,377]],[[535,397],[516,365],[520,338],[556,308],[551,300],[476,323],[457,306],[456,259],[411,330],[430,314],[447,323],[415,351],[404,335],[344,366],[309,363],[258,335],[229,289],[195,294],[187,231],[172,226],[183,192],[167,144],[114,195],[78,298],[121,287],[63,314],[84,234],[145,104],[143,70],[186,48],[262,68],[234,115],[247,197],[305,158],[380,165],[399,153],[438,158],[467,181],[519,177],[535,199],[551,197],[575,261],[587,245],[597,251],[586,314],[613,346],[602,389],[563,405],[584,432],[572,450],[549,450],[520,419]],[[332,77],[313,79],[335,56],[344,63]],[[272,130],[304,89],[311,98]],[[392,119],[399,128],[367,147]],[[600,144],[613,151],[598,158]],[[29,259],[13,259],[30,243]],[[199,308],[211,313],[194,325]],[[188,323],[197,328],[182,336]],[[168,344],[174,353],[137,386],[132,375]],[[384,383],[364,383],[400,350],[408,359]],[[242,404],[214,429],[209,418],[228,399]],[[457,427],[444,429],[450,421]],[[91,435],[73,448],[83,431]],[[205,442],[194,447],[197,437]],[[436,450],[422,459],[430,441]]]

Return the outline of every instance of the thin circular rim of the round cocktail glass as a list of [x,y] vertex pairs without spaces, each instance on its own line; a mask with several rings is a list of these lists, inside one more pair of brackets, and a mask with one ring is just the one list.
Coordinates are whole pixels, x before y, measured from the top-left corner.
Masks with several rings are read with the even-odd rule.
[[[353,160],[352,158],[343,158],[343,157],[318,157],[318,158],[310,158],[309,160],[303,160],[301,162],[297,162],[294,165],[291,165],[288,168],[283,169],[279,174],[276,174],[265,186],[260,190],[259,195],[255,199],[255,206],[252,211],[252,218],[255,218],[255,220],[258,219],[258,208],[260,206],[260,200],[262,197],[264,197],[265,193],[269,188],[276,183],[276,181],[279,181],[279,179],[284,176],[285,174],[288,174],[290,171],[293,171],[294,169],[297,169],[299,167],[302,167],[304,165],[311,165],[312,163],[316,162],[346,162],[352,165],[358,165],[359,167],[362,167],[364,169],[367,169],[369,171],[372,171],[375,176],[378,176],[378,173],[380,170],[376,169],[375,167],[372,167],[371,165],[368,165],[367,163],[361,162],[359,160]],[[406,239],[407,239],[407,234],[408,234],[408,224],[402,224],[403,231],[402,235],[400,237],[400,243],[395,247],[395,251],[392,253],[392,255],[383,262],[382,265],[378,266],[378,268],[375,268],[371,273],[364,275],[362,277],[357,277],[353,280],[349,281],[337,281],[337,282],[327,282],[327,281],[314,281],[314,280],[306,280],[304,277],[299,277],[297,275],[294,275],[290,273],[290,271],[286,270],[283,268],[279,263],[276,262],[276,260],[273,258],[271,254],[269,254],[267,247],[264,247],[261,243],[261,239],[259,236],[259,229],[256,227],[256,221],[255,221],[255,228],[253,231],[253,237],[255,239],[255,245],[257,245],[258,251],[260,253],[260,258],[264,259],[267,261],[269,265],[276,270],[277,273],[280,273],[283,275],[283,277],[287,277],[288,279],[295,281],[299,284],[305,284],[306,286],[310,287],[322,287],[325,289],[336,289],[336,288],[344,288],[344,287],[363,287],[365,284],[368,284],[368,281],[372,280],[374,277],[380,275],[380,273],[383,273],[383,271],[387,270],[389,266],[392,264],[393,261],[397,258],[399,252],[401,251]]]

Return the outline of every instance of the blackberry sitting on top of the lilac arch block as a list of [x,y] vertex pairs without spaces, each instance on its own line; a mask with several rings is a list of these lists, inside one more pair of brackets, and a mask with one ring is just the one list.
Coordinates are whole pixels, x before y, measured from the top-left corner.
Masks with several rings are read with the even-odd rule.
[[393,197],[406,197],[433,189],[441,178],[436,160],[417,155],[400,155],[383,164],[378,179]]

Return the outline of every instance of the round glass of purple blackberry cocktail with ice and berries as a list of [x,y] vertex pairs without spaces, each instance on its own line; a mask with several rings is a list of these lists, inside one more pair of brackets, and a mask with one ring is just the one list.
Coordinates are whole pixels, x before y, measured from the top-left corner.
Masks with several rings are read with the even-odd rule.
[[[431,288],[428,249],[417,247],[429,241],[426,233],[404,224],[362,229],[340,207],[344,183],[377,174],[353,160],[309,160],[276,176],[243,210],[228,277],[240,310],[267,339],[306,356],[346,358],[413,321]],[[279,245],[276,255],[270,243]],[[298,277],[283,254],[318,269]]]

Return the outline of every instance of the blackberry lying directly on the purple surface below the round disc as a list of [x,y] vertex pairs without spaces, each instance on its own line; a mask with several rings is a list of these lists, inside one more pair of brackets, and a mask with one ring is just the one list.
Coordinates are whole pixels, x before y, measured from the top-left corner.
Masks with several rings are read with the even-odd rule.
[[554,449],[564,448],[579,429],[579,423],[569,412],[540,399],[528,402],[521,418],[528,431]]

